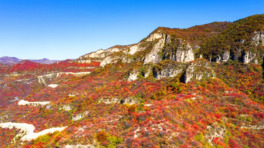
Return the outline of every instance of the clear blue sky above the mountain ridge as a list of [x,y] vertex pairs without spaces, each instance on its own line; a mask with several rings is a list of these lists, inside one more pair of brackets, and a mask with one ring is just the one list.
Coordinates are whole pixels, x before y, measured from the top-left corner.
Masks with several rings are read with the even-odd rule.
[[263,0],[0,0],[0,57],[76,59],[138,43],[157,27],[189,28],[264,13]]

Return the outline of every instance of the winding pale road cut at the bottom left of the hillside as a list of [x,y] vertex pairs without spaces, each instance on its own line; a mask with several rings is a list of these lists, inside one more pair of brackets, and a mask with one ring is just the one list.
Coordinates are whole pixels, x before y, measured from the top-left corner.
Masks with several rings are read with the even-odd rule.
[[43,131],[38,132],[38,133],[34,133],[33,131],[34,131],[35,127],[32,124],[27,124],[27,123],[11,123],[11,122],[7,122],[7,123],[1,123],[0,127],[2,127],[2,128],[7,127],[7,128],[10,128],[10,129],[13,128],[13,127],[16,127],[16,128],[21,129],[21,131],[25,131],[27,134],[24,135],[21,138],[21,140],[35,139],[38,136],[45,135],[47,133],[53,133],[54,131],[62,131],[62,130],[64,130],[66,128],[66,127],[54,127],[54,128],[43,130]]

